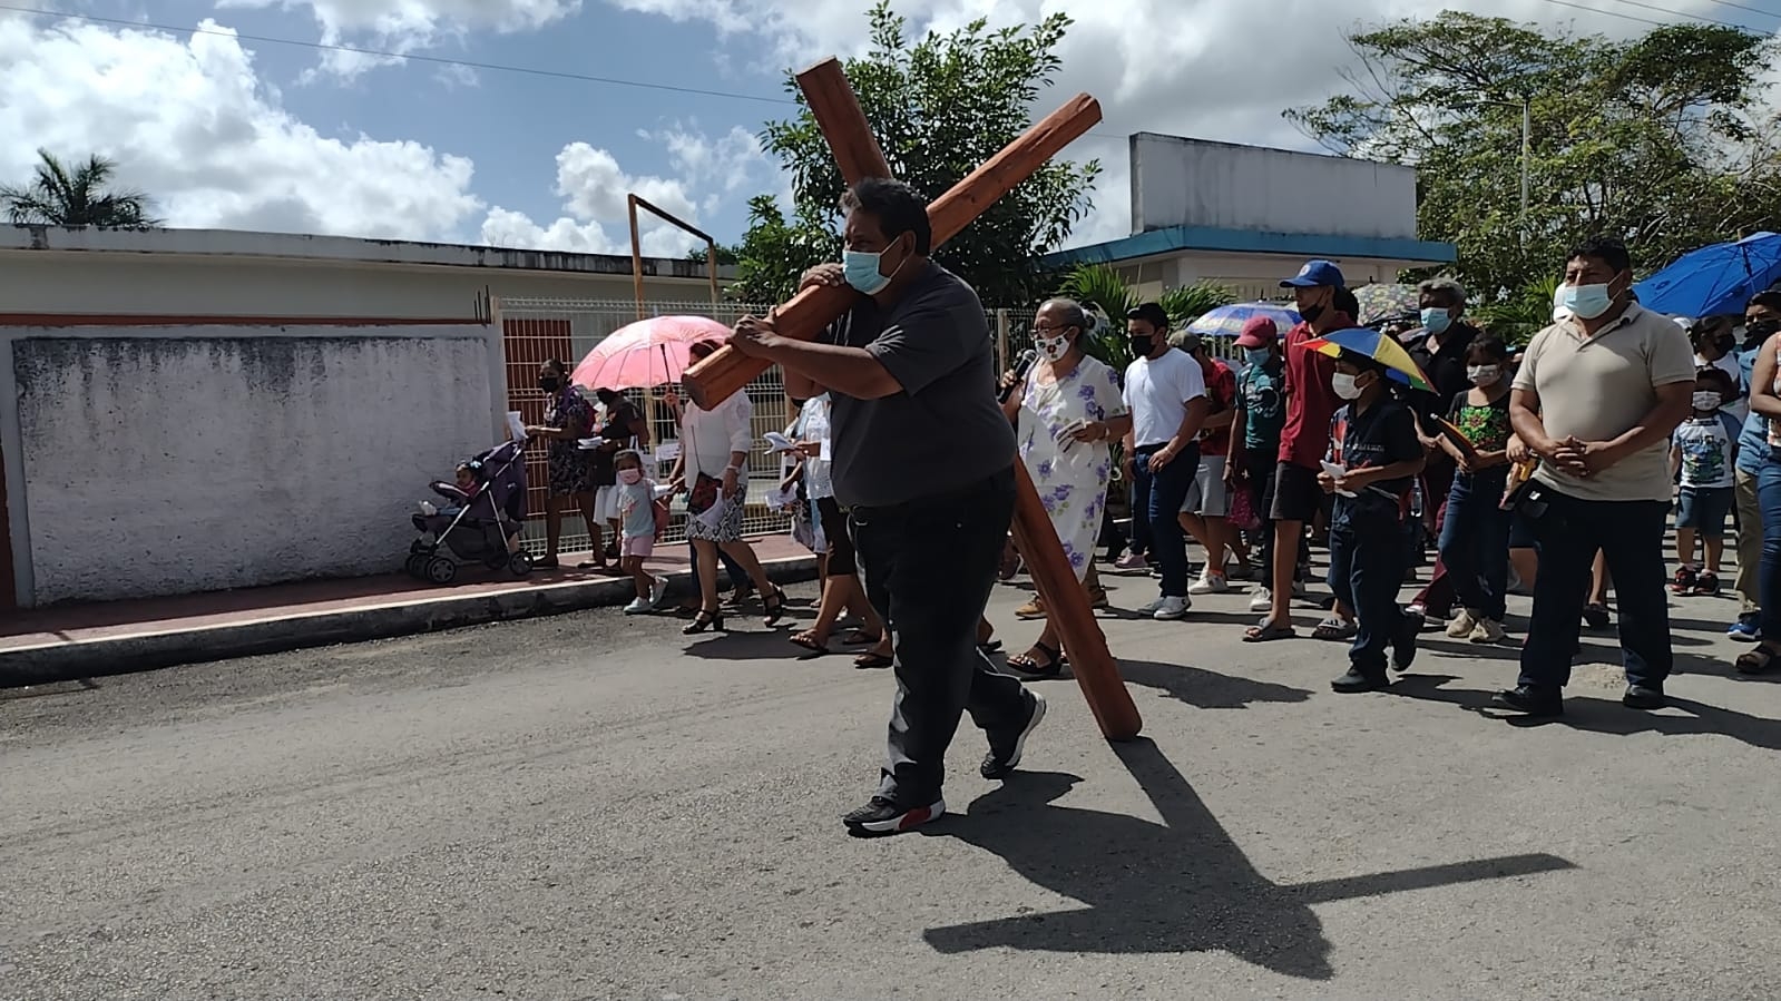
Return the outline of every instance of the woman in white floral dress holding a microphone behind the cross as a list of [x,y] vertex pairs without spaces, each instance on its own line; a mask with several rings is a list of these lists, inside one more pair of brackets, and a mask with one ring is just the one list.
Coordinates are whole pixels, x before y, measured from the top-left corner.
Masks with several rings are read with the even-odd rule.
[[[1021,461],[1038,488],[1078,581],[1092,570],[1101,538],[1113,474],[1110,444],[1131,429],[1118,376],[1083,353],[1081,338],[1090,322],[1088,312],[1070,299],[1040,306],[1033,317],[1033,344],[1040,360],[1028,372],[1026,385],[1003,404],[1015,422]],[[1003,376],[1003,385],[1015,385],[1015,374]],[[1033,677],[1060,675],[1063,650],[1058,629],[1047,620],[1033,648],[1008,657],[1008,666]]]

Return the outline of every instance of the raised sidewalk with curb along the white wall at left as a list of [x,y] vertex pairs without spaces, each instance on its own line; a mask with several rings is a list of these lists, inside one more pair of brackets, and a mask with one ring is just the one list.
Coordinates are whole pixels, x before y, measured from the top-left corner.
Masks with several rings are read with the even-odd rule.
[[[816,579],[816,557],[789,536],[752,543],[773,581]],[[565,556],[563,565],[582,559]],[[663,547],[650,568],[671,581],[673,598],[695,593],[686,543]],[[392,574],[27,609],[0,620],[0,688],[559,614],[636,597],[629,577],[593,570],[534,570],[515,581],[465,568],[461,581],[435,588]]]

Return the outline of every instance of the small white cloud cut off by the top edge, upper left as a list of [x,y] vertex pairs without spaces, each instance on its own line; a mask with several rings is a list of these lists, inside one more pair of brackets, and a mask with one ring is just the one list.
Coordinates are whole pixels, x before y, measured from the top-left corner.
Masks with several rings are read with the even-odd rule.
[[[410,53],[479,30],[524,32],[581,12],[581,0],[217,0],[217,9],[308,9],[324,45]],[[353,78],[401,59],[324,52],[322,69]]]

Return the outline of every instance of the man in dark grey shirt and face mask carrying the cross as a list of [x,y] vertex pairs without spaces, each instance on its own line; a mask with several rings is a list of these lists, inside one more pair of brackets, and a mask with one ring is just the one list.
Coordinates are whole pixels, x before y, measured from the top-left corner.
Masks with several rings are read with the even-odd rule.
[[964,711],[988,737],[980,771],[1003,778],[1045,700],[978,650],[1015,497],[1015,440],[996,404],[983,305],[928,258],[926,199],[908,185],[866,178],[841,208],[846,265],[803,281],[851,285],[858,303],[817,342],[780,337],[773,317],[744,317],[730,344],[778,363],[793,397],[826,388],[834,399],[835,499],[850,508],[898,680],[878,793],[842,823],[896,834],[946,812],[946,748]]

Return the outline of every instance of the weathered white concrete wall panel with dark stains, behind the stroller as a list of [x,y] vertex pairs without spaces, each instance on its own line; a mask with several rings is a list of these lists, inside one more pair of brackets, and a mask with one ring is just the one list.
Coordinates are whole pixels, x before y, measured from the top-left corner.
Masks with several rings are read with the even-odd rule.
[[9,500],[25,513],[34,582],[21,597],[390,572],[427,483],[492,444],[490,413],[504,410],[492,337],[486,326],[7,331],[23,467]]

